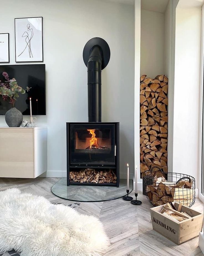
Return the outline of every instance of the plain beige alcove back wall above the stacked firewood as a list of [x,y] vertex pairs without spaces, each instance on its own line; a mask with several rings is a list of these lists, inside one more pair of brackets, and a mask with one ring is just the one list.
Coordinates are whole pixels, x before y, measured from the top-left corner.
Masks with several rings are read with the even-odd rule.
[[141,10],[140,74],[164,74],[164,13]]

